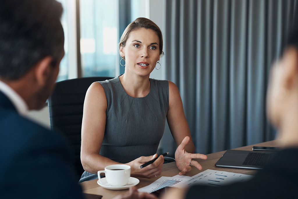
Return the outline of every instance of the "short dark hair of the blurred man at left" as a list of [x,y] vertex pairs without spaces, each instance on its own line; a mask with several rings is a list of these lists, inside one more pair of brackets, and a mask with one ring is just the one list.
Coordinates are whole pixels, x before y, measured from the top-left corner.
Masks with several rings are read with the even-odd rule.
[[55,0],[0,1],[0,77],[21,78],[46,56],[64,54],[62,5]]

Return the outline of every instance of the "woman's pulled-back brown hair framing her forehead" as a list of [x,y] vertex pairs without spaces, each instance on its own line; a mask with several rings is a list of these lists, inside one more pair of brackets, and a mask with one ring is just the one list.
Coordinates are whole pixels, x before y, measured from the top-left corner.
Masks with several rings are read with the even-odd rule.
[[126,41],[129,37],[129,34],[131,33],[131,31],[137,30],[139,28],[146,28],[146,29],[151,29],[154,30],[159,38],[159,55],[162,56],[164,54],[164,52],[162,51],[162,31],[159,29],[159,27],[150,19],[148,18],[143,18],[143,17],[139,17],[136,20],[134,20],[133,22],[131,22],[124,30],[120,41],[119,41],[119,48],[121,47],[125,47]]

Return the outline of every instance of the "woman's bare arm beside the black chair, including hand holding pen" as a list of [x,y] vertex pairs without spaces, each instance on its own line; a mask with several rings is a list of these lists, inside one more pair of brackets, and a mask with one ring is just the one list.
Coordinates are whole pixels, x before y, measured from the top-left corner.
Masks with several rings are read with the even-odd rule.
[[[85,171],[90,173],[96,174],[108,165],[121,164],[99,154],[105,133],[106,110],[105,91],[100,83],[94,82],[86,92],[82,121],[81,162]],[[156,157],[157,154],[142,156],[126,163],[131,166],[131,176],[153,178],[160,175],[164,160],[162,155],[152,164],[140,168],[140,165]]]

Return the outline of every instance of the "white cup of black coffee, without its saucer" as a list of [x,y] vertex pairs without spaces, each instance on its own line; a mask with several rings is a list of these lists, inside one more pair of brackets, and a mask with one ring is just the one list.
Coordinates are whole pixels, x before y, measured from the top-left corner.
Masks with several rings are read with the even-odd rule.
[[100,179],[100,174],[105,173],[105,179],[111,186],[124,186],[128,183],[130,177],[130,166],[125,164],[114,164],[106,166],[104,171],[98,171],[98,180],[104,184]]

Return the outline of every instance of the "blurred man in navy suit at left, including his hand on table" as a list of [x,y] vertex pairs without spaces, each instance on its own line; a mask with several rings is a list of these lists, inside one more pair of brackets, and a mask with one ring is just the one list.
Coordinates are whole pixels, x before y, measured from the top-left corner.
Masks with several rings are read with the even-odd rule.
[[[0,1],[0,198],[83,198],[64,140],[26,118],[54,87],[62,11],[55,0]],[[155,198],[135,188],[125,197]]]

